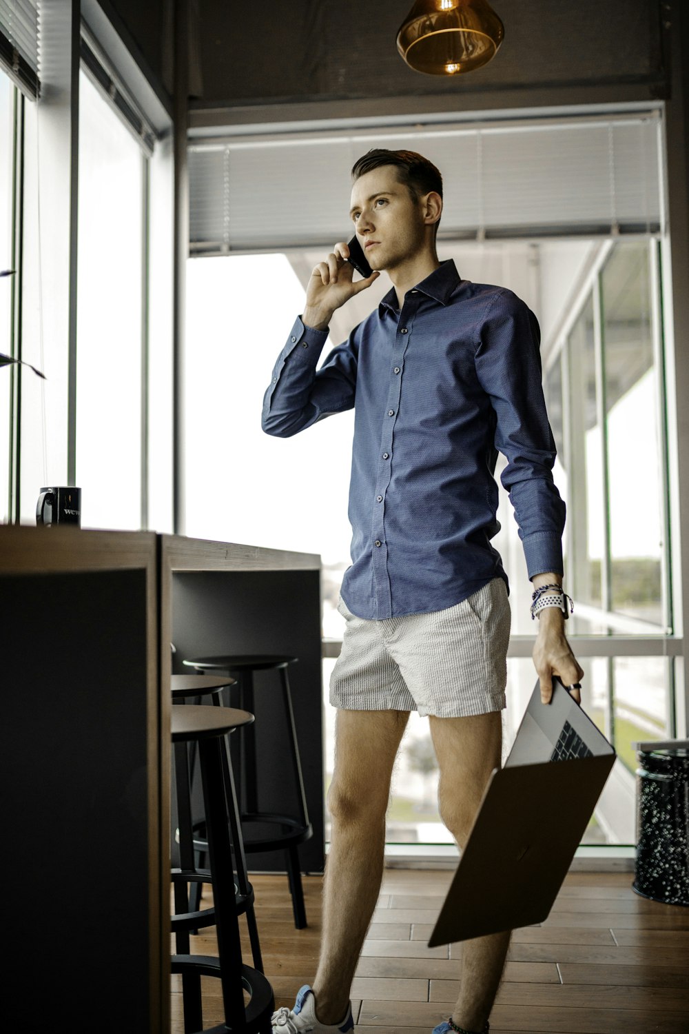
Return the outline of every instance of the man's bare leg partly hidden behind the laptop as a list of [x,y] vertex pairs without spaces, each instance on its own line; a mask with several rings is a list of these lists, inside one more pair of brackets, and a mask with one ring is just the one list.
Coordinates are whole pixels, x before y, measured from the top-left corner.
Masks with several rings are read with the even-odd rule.
[[[440,767],[440,816],[463,847],[494,768],[501,765],[500,711],[470,718],[430,718]],[[498,993],[510,933],[492,934],[462,945],[462,983],[452,1020],[468,1031],[486,1026]]]

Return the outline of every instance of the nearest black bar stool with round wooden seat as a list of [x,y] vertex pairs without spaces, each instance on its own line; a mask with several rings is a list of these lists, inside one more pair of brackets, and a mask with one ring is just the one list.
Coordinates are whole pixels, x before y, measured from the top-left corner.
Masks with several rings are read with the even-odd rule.
[[[171,972],[182,974],[184,1029],[198,1031],[202,1024],[200,977],[219,977],[222,985],[224,1024],[212,1028],[216,1032],[228,1029],[246,1034],[270,1034],[271,1016],[275,1007],[273,989],[263,976],[253,913],[253,888],[247,879],[246,858],[242,843],[239,805],[234,791],[232,766],[229,760],[227,734],[253,722],[253,714],[230,707],[187,704],[173,707],[171,736],[176,760],[178,813],[180,815],[180,869],[173,870],[176,914],[171,929],[176,935],[177,953],[171,956]],[[195,742],[203,788],[203,809],[210,869],[197,870],[193,864],[189,771],[187,744]],[[233,855],[233,859],[232,859]],[[237,882],[234,878],[237,871]],[[213,908],[188,911],[187,883],[213,885]],[[252,936],[254,968],[242,960],[239,915],[246,913],[256,934]],[[190,953],[189,932],[214,925],[218,939],[218,956]],[[251,936],[251,922],[249,924]],[[256,957],[257,952],[257,957]],[[244,1003],[244,993],[250,1000]],[[211,1034],[211,1031],[207,1032]]]

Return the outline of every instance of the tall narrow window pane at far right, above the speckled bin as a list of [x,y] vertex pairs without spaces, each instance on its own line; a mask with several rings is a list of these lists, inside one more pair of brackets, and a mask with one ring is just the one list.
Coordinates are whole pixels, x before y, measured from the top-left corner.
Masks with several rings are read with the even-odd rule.
[[616,246],[601,274],[601,291],[610,606],[661,625],[662,452],[647,242]]

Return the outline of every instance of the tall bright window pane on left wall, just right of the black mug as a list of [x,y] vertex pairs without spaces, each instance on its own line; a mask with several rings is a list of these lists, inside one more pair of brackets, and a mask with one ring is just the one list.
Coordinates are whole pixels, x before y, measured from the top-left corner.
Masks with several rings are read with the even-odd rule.
[[82,72],[76,483],[90,527],[140,526],[143,175],[140,148]]

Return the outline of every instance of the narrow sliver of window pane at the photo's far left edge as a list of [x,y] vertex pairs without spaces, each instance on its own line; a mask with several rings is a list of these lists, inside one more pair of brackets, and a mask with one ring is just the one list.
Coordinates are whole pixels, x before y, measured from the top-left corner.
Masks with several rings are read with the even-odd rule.
[[[0,71],[0,270],[12,266],[13,87]],[[12,278],[0,277],[0,352],[10,352]],[[0,522],[9,517],[10,368],[0,366]]]

